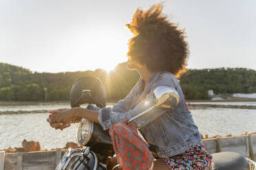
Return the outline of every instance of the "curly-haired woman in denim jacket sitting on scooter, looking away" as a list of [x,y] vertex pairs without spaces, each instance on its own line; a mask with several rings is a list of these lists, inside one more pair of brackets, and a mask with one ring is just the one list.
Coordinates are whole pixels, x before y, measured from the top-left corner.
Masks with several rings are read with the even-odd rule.
[[127,69],[136,69],[140,80],[131,92],[113,108],[71,108],[50,111],[47,121],[63,129],[79,118],[100,123],[105,130],[111,124],[136,116],[136,106],[152,97],[158,86],[170,86],[178,92],[179,104],[172,109],[154,109],[135,121],[156,155],[153,169],[208,169],[212,156],[201,141],[198,127],[186,106],[177,80],[186,71],[189,49],[184,31],[162,15],[162,5],[149,10],[137,9],[127,27],[134,33],[129,40]]

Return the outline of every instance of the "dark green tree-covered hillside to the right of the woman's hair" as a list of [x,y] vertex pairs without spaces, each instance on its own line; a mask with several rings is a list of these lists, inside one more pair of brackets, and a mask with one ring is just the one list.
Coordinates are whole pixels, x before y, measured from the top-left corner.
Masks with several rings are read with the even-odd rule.
[[215,94],[256,93],[256,71],[252,69],[192,69],[180,82],[186,99],[207,99],[207,90]]

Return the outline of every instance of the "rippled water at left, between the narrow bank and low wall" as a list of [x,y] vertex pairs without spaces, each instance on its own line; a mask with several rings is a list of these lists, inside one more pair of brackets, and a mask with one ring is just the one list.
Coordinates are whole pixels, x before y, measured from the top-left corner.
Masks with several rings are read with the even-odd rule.
[[21,147],[24,138],[39,141],[41,149],[65,147],[65,143],[75,141],[76,125],[55,130],[47,123],[47,117],[47,113],[0,115],[0,149]]

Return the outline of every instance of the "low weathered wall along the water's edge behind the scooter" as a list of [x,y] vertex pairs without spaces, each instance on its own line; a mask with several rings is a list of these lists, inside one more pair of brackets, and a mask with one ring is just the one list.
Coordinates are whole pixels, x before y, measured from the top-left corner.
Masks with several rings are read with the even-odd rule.
[[[250,158],[251,154],[254,154],[254,158],[256,158],[256,134],[203,139],[203,143],[211,154],[219,151],[235,151]],[[57,151],[35,151],[15,154],[5,154],[2,151],[0,152],[0,170],[54,170],[65,151],[65,149],[57,149]]]

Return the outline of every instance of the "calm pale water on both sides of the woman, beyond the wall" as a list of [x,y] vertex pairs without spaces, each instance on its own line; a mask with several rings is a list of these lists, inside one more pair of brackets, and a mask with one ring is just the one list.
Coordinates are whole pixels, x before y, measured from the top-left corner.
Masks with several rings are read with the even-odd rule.
[[[220,102],[217,103],[220,104]],[[227,103],[231,104],[231,102]],[[43,103],[29,106],[0,106],[0,111],[57,108],[70,108],[70,105],[68,103]],[[190,110],[202,134],[225,136],[243,134],[246,131],[256,132],[256,110],[230,108],[190,108]],[[0,149],[21,147],[24,138],[27,141],[39,141],[41,149],[65,147],[65,143],[75,142],[76,125],[63,131],[55,130],[47,123],[47,117],[47,113],[0,115]]]

